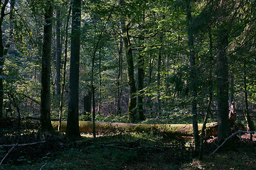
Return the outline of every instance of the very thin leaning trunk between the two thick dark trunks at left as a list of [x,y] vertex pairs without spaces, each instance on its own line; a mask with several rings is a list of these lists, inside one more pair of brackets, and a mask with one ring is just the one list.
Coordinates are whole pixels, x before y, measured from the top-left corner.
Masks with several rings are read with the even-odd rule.
[[63,64],[63,84],[61,87],[61,94],[60,94],[60,114],[59,114],[59,125],[58,125],[58,131],[61,131],[61,121],[62,121],[62,115],[63,115],[63,97],[64,97],[64,90],[65,90],[65,74],[66,74],[66,66],[67,66],[67,60],[68,60],[68,23],[70,20],[70,13],[71,13],[71,6],[68,11],[68,18],[67,23],[65,27],[65,57],[64,57],[64,64]]

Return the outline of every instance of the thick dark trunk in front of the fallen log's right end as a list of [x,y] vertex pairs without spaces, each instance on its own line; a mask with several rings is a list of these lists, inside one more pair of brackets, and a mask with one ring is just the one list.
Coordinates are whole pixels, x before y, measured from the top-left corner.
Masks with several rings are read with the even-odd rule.
[[228,57],[225,48],[228,46],[228,32],[218,26],[217,52],[217,105],[218,105],[218,142],[222,143],[230,134],[228,123]]

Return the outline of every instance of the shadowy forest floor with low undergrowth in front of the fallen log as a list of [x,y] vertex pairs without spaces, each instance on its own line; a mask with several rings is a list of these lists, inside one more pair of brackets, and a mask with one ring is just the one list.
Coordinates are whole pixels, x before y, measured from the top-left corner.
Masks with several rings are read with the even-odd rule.
[[[26,139],[33,141],[32,136]],[[124,133],[96,139],[83,135],[74,143],[48,135],[46,142],[14,147],[0,169],[256,169],[256,142],[247,138],[235,142],[235,150],[211,156],[216,145],[208,140],[203,161],[198,161],[191,141]],[[0,147],[0,159],[6,151]]]

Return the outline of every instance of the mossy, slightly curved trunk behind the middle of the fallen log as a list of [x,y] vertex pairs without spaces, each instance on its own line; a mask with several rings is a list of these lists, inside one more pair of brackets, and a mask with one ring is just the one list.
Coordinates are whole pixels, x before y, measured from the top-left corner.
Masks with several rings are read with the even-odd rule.
[[[124,0],[119,0],[119,5],[122,6]],[[125,26],[124,21],[121,21],[121,31],[122,31],[122,40],[124,42],[124,52],[127,60],[127,75],[128,75],[128,84],[129,84],[129,104],[128,104],[128,114],[129,121],[135,122],[137,120],[136,116],[136,106],[137,106],[137,98],[136,98],[136,84],[134,79],[134,62],[132,55],[131,43],[129,40],[129,30],[127,26]]]

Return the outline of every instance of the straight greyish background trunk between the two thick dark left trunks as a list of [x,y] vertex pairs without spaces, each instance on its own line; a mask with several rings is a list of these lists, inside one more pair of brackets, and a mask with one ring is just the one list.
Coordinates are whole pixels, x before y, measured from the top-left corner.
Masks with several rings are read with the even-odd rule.
[[56,35],[55,35],[55,48],[56,48],[56,72],[55,72],[55,91],[56,94],[60,95],[60,69],[61,69],[61,44],[60,44],[60,6],[56,7]]

